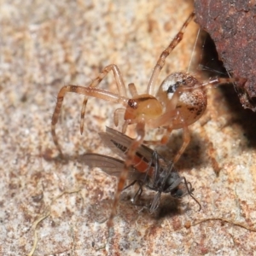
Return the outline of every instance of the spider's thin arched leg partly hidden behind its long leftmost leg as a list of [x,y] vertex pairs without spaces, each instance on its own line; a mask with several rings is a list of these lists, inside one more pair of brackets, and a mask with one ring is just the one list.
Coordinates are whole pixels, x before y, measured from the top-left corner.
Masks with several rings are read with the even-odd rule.
[[[126,96],[126,90],[125,90],[125,83],[124,80],[121,76],[121,73],[119,71],[119,67],[117,67],[114,64],[110,64],[107,67],[105,67],[102,72],[96,77],[96,79],[94,79],[91,84],[89,85],[90,87],[96,87],[98,84],[101,83],[102,79],[104,79],[107,74],[110,71],[113,71],[113,77],[115,79],[115,82],[117,84],[117,89],[119,91],[119,96]],[[84,114],[85,114],[85,108],[86,108],[86,104],[88,102],[88,97],[85,96],[84,97],[84,102],[82,105],[82,110],[81,110],[81,120],[80,120],[80,133],[83,134],[84,131]]]

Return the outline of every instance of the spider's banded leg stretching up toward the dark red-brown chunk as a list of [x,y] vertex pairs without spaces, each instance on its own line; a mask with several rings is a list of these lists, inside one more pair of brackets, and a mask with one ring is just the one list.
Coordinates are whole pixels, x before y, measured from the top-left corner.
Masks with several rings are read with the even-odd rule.
[[172,49],[174,49],[177,46],[177,44],[183,39],[183,33],[185,32],[186,27],[189,25],[189,22],[193,20],[194,16],[195,16],[195,13],[192,13],[191,15],[189,15],[189,18],[184,22],[181,30],[177,32],[177,35],[175,36],[175,38],[173,38],[171,44],[169,44],[168,47],[161,53],[160,58],[158,59],[158,61],[156,62],[156,65],[154,66],[151,78],[149,79],[148,89],[147,89],[147,93],[149,95],[152,95],[154,92],[155,81],[158,78],[158,75],[161,69],[165,66],[166,57],[170,55],[170,53],[172,52]]

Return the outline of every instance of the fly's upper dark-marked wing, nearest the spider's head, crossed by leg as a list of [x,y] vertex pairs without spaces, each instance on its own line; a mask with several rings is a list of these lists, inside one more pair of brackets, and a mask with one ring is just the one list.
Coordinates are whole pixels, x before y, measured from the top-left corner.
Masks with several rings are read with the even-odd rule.
[[[120,157],[125,158],[125,154],[133,142],[131,137],[128,137],[119,131],[115,131],[108,126],[106,126],[106,132],[101,132],[99,135],[102,137],[103,143],[105,143],[108,148],[111,148],[111,150]],[[141,145],[137,148],[136,154],[149,162],[152,159],[153,152],[154,150],[151,148]]]

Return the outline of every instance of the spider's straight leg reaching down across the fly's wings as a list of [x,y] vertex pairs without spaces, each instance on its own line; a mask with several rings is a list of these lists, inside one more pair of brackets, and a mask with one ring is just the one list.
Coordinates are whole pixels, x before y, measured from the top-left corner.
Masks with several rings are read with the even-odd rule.
[[113,207],[110,213],[110,217],[108,219],[108,229],[110,229],[113,226],[113,217],[115,215],[116,208],[119,203],[120,193],[122,192],[125,186],[125,180],[129,172],[129,166],[132,165],[133,158],[134,158],[134,155],[136,154],[137,148],[143,143],[143,138],[145,137],[145,123],[138,122],[136,126],[136,131],[137,131],[137,137],[133,140],[130,148],[128,149],[128,152],[126,154],[125,166],[119,176],[118,187],[113,199]]

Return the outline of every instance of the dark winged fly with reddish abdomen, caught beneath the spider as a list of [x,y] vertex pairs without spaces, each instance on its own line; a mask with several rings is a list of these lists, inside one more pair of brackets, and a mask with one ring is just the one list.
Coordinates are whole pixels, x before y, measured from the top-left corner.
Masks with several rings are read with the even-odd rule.
[[[133,141],[131,137],[127,137],[109,127],[106,127],[106,132],[101,132],[99,135],[108,148],[111,148],[120,157],[125,158],[125,154]],[[80,156],[80,161],[87,166],[100,167],[102,171],[115,177],[119,177],[125,164],[122,160],[103,154],[83,154]],[[187,182],[185,177],[179,176],[172,161],[165,160],[156,151],[143,144],[137,148],[132,166],[129,168],[128,179],[133,181],[123,190],[128,189],[135,183],[139,185],[133,201],[136,201],[142,195],[143,186],[157,191],[148,208],[150,213],[155,212],[159,207],[161,193],[170,193],[174,199],[181,199],[185,195],[190,195],[199,205],[199,211],[201,210],[201,204],[192,194],[194,189],[191,183]],[[184,188],[181,187],[181,184],[183,184]]]

